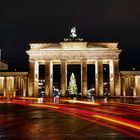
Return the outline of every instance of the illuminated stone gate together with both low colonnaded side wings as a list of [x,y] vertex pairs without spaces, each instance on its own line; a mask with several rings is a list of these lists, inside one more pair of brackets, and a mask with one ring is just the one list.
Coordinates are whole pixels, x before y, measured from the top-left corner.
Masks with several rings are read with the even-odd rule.
[[[60,43],[31,43],[29,72],[0,72],[0,96],[53,96],[53,66],[60,66],[60,90],[65,96],[68,88],[68,66],[80,66],[80,86],[83,97],[88,91],[88,65],[93,65],[95,96],[105,93],[104,65],[108,65],[108,95],[140,96],[140,71],[119,71],[118,43],[65,41]],[[44,79],[40,79],[40,65],[44,65]],[[57,74],[57,73],[56,73]],[[43,81],[43,82],[42,82]],[[42,91],[41,91],[42,92]]]

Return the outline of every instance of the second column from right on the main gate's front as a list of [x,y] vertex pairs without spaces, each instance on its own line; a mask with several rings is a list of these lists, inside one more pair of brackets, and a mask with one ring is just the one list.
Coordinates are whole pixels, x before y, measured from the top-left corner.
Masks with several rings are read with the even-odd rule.
[[96,96],[103,96],[103,64],[102,60],[95,62]]

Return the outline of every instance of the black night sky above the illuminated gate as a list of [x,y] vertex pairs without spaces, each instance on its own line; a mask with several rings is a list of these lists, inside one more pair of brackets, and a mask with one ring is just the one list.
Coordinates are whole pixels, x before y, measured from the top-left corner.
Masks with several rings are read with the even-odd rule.
[[140,0],[1,0],[0,48],[10,70],[28,70],[30,42],[118,42],[120,70],[140,70]]

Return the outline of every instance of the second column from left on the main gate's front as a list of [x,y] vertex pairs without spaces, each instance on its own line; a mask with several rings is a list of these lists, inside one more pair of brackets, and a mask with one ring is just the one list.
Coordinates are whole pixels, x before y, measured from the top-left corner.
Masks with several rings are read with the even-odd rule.
[[45,95],[52,97],[53,88],[53,66],[50,60],[45,62]]

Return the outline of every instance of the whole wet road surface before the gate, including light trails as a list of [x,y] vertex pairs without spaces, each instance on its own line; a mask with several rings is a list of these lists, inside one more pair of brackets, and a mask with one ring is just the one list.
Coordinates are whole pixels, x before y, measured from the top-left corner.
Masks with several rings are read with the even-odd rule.
[[[125,101],[132,102],[133,100]],[[108,120],[102,120],[101,116],[100,118],[88,117],[89,110],[92,110],[96,117],[101,113],[113,114],[114,111],[116,118],[122,119],[123,117],[123,119],[127,118],[139,123],[138,113],[140,112],[136,112],[134,116],[132,112],[132,107],[135,107],[134,110],[140,109],[138,104],[136,106],[129,104],[131,112],[127,112],[126,104],[120,103],[118,100],[117,105],[114,105],[114,101],[112,105],[99,101],[94,106],[93,102],[91,105],[86,102],[88,103],[88,101],[71,102],[66,100],[60,103],[0,100],[0,140],[134,140],[139,138],[139,127],[131,127],[132,132],[137,131],[137,134],[129,134],[127,130],[129,132],[131,129],[127,128],[127,125],[121,126],[121,123],[115,121],[106,123]],[[138,100],[135,102],[139,103]],[[122,104],[124,104],[124,110]],[[123,111],[124,114],[127,114],[125,117]]]

